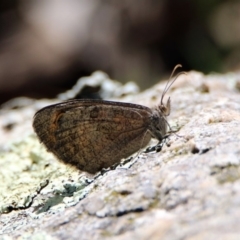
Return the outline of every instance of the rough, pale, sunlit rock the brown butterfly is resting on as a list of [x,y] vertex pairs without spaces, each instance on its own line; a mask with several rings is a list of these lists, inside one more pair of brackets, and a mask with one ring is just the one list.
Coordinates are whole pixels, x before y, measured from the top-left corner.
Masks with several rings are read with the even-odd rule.
[[[31,116],[52,101],[1,110],[3,239],[239,239],[239,79],[181,76],[169,91],[169,123],[180,128],[170,146],[95,178],[58,162],[33,134]],[[164,85],[111,100],[152,107]]]

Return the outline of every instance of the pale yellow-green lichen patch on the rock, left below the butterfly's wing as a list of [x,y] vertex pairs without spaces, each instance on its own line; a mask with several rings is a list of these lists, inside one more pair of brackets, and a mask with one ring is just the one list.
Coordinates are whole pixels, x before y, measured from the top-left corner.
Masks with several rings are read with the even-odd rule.
[[33,206],[36,214],[60,203],[76,204],[89,184],[78,170],[58,162],[33,135],[8,144],[0,153],[0,182],[0,213]]

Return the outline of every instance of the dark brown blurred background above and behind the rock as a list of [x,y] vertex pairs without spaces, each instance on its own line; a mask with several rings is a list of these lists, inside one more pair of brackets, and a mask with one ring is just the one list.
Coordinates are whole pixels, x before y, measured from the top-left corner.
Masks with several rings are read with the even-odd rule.
[[240,1],[0,2],[0,103],[55,97],[96,70],[145,89],[178,63],[239,70]]

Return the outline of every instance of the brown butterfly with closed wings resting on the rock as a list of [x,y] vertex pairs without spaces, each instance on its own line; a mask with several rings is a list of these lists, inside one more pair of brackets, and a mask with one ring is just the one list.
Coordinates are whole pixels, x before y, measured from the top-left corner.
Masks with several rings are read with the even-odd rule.
[[[177,65],[174,70],[179,67]],[[33,128],[40,141],[64,163],[96,173],[167,135],[170,98],[155,108],[102,100],[70,100],[39,110]]]

